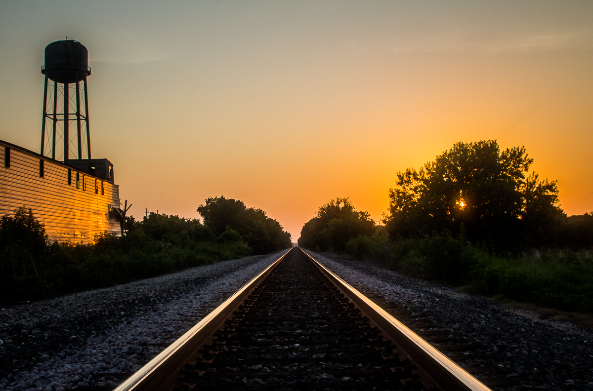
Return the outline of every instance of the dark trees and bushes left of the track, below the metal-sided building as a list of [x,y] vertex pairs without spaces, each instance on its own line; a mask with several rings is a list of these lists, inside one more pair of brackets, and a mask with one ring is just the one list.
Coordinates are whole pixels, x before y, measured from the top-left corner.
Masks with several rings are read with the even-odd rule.
[[127,217],[122,237],[104,232],[92,245],[81,245],[48,242],[44,226],[21,207],[0,218],[0,302],[106,287],[291,246],[276,220],[241,201],[208,198],[199,210],[204,223],[149,213],[141,221]]

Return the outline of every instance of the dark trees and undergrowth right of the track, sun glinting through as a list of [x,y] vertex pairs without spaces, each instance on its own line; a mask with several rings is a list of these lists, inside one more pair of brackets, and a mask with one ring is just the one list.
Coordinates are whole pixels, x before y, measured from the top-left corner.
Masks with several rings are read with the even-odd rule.
[[397,173],[384,225],[337,198],[305,223],[299,245],[503,300],[593,312],[593,213],[566,216],[556,181],[531,164],[525,148],[457,143]]

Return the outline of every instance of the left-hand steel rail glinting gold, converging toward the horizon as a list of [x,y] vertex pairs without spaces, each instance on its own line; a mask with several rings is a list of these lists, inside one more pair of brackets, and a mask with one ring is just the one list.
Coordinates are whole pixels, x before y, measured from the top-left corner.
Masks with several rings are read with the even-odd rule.
[[[289,251],[291,251],[290,249]],[[176,386],[177,371],[184,363],[197,354],[197,351],[218,329],[224,327],[224,322],[244,299],[253,291],[260,282],[286,257],[286,251],[273,264],[269,265],[262,273],[253,277],[241,289],[235,292],[224,303],[216,307],[200,322],[183,334],[177,341],[160,352],[157,357],[136,371],[114,391],[152,391],[172,390]]]

